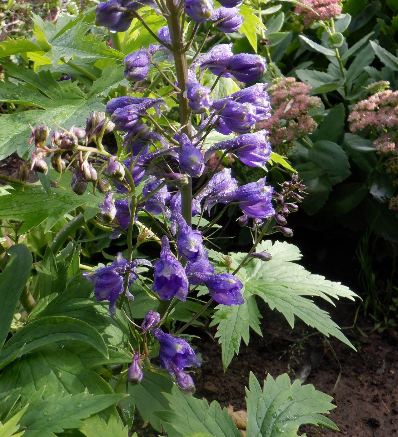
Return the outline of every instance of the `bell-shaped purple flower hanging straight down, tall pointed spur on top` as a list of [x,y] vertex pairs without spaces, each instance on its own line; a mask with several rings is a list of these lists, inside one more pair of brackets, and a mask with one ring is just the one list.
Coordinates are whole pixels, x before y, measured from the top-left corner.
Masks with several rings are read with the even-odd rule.
[[160,260],[154,265],[154,284],[152,290],[157,291],[162,300],[176,297],[185,302],[188,295],[188,278],[184,267],[173,257],[167,236],[162,237]]

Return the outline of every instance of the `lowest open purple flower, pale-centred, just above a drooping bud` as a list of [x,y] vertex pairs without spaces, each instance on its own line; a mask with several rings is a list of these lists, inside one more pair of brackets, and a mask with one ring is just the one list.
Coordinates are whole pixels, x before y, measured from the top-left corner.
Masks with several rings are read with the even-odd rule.
[[186,340],[166,334],[159,328],[154,330],[154,336],[160,343],[159,360],[164,369],[175,371],[177,368],[183,371],[185,367],[200,366],[194,350]]

